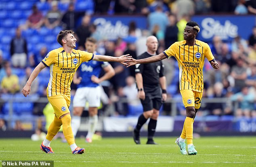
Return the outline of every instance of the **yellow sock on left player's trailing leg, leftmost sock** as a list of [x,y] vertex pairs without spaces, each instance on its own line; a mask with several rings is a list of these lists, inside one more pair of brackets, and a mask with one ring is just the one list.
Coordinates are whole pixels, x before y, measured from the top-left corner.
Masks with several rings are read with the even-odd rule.
[[52,141],[54,136],[59,132],[59,129],[61,128],[61,125],[62,125],[61,119],[58,119],[55,116],[52,123],[50,124],[50,126],[48,128],[46,139],[49,140],[49,141]]

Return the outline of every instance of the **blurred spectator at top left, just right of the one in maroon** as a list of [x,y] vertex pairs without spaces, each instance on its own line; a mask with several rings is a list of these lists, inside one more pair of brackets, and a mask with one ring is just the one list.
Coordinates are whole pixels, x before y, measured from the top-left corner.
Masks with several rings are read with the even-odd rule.
[[61,25],[62,14],[58,8],[58,1],[51,2],[51,10],[46,13],[44,24],[48,29],[53,29]]

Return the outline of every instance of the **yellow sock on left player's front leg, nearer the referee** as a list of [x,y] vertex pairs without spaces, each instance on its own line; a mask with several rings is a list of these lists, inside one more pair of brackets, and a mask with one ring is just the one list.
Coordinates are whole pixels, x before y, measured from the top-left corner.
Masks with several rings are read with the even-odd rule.
[[71,128],[71,116],[70,114],[65,115],[64,117],[61,118],[62,121],[62,127],[63,127],[63,134],[67,140],[67,143],[69,146],[71,144],[75,143],[72,128]]

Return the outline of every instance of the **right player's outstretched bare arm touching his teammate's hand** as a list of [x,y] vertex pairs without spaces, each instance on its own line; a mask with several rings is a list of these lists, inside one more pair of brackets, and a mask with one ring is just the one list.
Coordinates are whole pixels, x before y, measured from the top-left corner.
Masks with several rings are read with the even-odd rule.
[[166,58],[166,55],[164,55],[164,53],[160,53],[158,55],[151,56],[151,57],[148,57],[148,58],[139,59],[139,60],[136,60],[136,59],[133,58],[132,61],[127,63],[128,64],[127,67],[130,67],[130,66],[136,65],[136,64],[154,63],[154,62],[157,62],[157,61],[161,61],[165,58]]

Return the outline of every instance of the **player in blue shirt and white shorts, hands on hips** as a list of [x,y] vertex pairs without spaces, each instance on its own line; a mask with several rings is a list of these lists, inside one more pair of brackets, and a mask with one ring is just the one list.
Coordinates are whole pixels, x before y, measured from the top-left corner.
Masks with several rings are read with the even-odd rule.
[[[85,43],[86,51],[96,54],[96,43],[97,41],[94,38],[87,38]],[[102,69],[105,71],[105,74],[99,78]],[[98,107],[101,103],[101,86],[99,83],[113,77],[115,71],[108,62],[89,61],[82,63],[78,72],[80,77],[75,75],[73,78],[74,84],[78,84],[78,89],[73,99],[71,127],[74,136],[76,136],[81,123],[81,115],[87,101],[89,103],[89,127],[86,142],[91,143],[92,136],[97,127]]]

